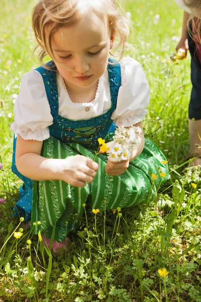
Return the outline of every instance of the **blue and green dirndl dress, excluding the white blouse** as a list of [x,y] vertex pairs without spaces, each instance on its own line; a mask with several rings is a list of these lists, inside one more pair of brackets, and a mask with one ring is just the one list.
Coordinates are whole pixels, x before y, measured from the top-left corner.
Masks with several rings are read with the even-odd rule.
[[[24,185],[20,189],[20,200],[14,207],[15,216],[31,219],[31,230],[38,234],[40,230],[48,238],[55,228],[54,240],[61,242],[72,231],[83,216],[82,204],[90,202],[91,209],[100,211],[131,207],[146,202],[150,194],[155,194],[159,186],[168,179],[166,158],[156,144],[145,139],[143,152],[130,162],[128,169],[120,176],[107,175],[105,167],[107,155],[98,154],[99,137],[106,142],[113,139],[115,126],[111,119],[117,106],[117,97],[121,86],[121,67],[119,63],[110,64],[108,74],[111,92],[111,108],[96,117],[87,120],[70,120],[59,115],[56,67],[50,61],[47,70],[42,66],[36,70],[41,73],[53,124],[49,126],[50,137],[43,142],[41,156],[50,159],[65,159],[69,156],[82,155],[98,163],[99,168],[91,184],[84,188],[73,187],[61,180],[32,181],[17,170],[15,164],[16,137],[14,138],[13,172]],[[51,69],[52,69],[51,68]],[[151,175],[157,178],[152,180]],[[162,176],[161,176],[162,175]],[[39,223],[37,223],[40,221]]]

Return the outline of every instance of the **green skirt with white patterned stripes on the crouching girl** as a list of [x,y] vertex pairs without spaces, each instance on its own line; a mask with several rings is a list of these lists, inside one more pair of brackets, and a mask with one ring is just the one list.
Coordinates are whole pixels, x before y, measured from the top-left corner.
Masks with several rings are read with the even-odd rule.
[[[95,158],[94,150],[86,149],[78,143],[66,144],[50,136],[43,143],[41,155],[49,159],[65,159],[77,154],[92,160]],[[131,207],[146,202],[168,179],[167,164],[162,163],[166,158],[149,139],[145,139],[143,152],[130,162],[124,174],[107,175],[107,161],[107,155],[98,154],[95,159],[99,165],[96,176],[84,188],[73,187],[61,180],[34,181],[31,217],[33,232],[38,234],[40,230],[51,238],[55,227],[54,240],[61,242],[78,225],[84,211],[82,204],[87,200],[91,202],[91,209],[100,211],[104,211],[105,207],[107,210]]]

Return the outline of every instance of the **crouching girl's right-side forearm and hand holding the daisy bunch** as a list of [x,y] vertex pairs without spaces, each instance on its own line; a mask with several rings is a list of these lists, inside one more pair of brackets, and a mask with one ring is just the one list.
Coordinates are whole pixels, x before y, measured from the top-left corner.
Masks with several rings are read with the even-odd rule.
[[[139,134],[141,137],[141,142],[138,145],[136,149],[133,150],[131,157],[129,160],[126,161],[121,161],[121,162],[112,162],[111,160],[108,160],[108,163],[106,165],[106,173],[110,175],[121,175],[123,174],[126,169],[129,167],[129,162],[136,159],[141,153],[144,148],[144,133],[143,133],[143,127],[142,127],[142,122],[139,122],[135,124],[134,126],[138,126],[141,128],[142,132]],[[129,127],[127,127],[129,128]],[[110,146],[110,142],[107,143],[108,146]]]

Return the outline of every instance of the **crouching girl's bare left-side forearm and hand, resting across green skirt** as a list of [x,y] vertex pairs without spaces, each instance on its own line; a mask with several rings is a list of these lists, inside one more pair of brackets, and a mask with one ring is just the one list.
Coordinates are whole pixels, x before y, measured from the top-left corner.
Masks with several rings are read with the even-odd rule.
[[63,180],[74,187],[93,181],[97,163],[80,155],[64,160],[46,159],[40,155],[42,145],[43,141],[25,140],[18,135],[16,166],[21,174],[33,180]]

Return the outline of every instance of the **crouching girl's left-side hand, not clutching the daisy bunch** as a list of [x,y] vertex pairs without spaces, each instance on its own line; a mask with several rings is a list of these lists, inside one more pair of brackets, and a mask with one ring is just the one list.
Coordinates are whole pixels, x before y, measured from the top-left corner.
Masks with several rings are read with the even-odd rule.
[[85,187],[96,175],[98,164],[81,155],[70,156],[62,161],[61,180],[73,187]]

